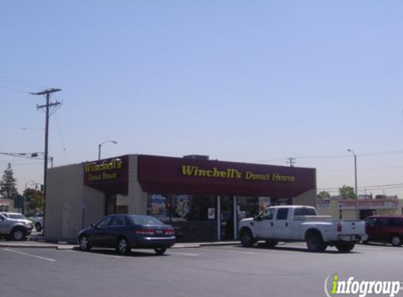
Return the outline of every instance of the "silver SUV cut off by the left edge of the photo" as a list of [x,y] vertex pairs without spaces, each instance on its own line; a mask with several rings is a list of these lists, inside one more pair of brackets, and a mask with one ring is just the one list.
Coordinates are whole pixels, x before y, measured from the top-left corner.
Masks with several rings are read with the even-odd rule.
[[32,232],[32,222],[21,213],[0,213],[0,236],[24,240]]

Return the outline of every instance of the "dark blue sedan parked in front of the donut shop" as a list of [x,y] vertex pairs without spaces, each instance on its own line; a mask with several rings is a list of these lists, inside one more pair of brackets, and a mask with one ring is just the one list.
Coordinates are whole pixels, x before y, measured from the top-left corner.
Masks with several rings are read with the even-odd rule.
[[175,243],[171,225],[149,215],[107,215],[91,227],[82,229],[77,241],[82,251],[93,246],[115,248],[117,253],[129,253],[132,248],[153,248],[162,255]]

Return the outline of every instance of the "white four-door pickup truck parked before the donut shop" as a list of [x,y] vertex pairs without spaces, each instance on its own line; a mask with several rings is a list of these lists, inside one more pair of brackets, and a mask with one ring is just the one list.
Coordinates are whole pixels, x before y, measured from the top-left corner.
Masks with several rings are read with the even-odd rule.
[[309,251],[323,252],[327,246],[350,252],[356,242],[366,241],[365,222],[334,220],[317,215],[310,206],[272,206],[257,217],[241,220],[239,237],[243,246],[265,240],[269,247],[279,241],[306,241]]

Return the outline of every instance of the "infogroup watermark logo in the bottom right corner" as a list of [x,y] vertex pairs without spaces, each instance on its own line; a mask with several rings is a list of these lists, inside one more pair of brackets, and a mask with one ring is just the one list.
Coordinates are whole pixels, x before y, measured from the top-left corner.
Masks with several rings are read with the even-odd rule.
[[367,295],[375,296],[397,296],[399,291],[402,291],[403,282],[401,281],[359,281],[354,277],[347,277],[341,280],[337,273],[329,274],[324,283],[324,291],[327,297],[335,296],[359,296],[366,297]]

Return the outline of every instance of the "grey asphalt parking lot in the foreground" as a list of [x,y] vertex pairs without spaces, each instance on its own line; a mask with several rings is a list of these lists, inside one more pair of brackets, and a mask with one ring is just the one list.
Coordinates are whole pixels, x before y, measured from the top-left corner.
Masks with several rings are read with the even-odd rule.
[[382,245],[309,253],[304,243],[172,248],[162,256],[152,250],[121,256],[108,249],[1,247],[0,296],[326,296],[325,278],[334,273],[403,281],[402,253]]

